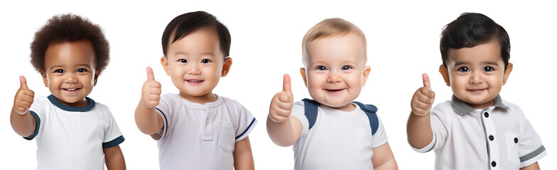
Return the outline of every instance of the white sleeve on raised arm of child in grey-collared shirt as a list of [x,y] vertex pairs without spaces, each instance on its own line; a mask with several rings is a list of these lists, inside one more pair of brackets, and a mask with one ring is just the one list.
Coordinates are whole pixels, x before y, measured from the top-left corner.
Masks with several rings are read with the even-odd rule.
[[433,130],[433,139],[431,142],[423,148],[415,148],[412,147],[416,152],[430,152],[433,149],[437,149],[439,147],[443,147],[445,144],[445,139],[447,136],[447,128],[443,124],[443,105],[445,103],[438,104],[436,107],[432,108],[430,111],[430,123],[431,123],[431,130]]

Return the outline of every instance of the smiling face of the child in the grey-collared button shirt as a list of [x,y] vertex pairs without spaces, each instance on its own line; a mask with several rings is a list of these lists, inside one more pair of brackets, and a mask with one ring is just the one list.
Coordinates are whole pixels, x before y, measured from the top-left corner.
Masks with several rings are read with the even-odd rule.
[[439,71],[453,94],[472,108],[480,109],[494,106],[494,99],[512,71],[511,63],[505,70],[497,41],[450,49],[446,64]]

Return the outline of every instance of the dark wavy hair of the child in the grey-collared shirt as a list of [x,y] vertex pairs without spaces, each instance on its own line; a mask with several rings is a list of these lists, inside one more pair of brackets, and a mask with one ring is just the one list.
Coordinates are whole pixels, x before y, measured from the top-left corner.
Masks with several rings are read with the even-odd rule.
[[448,50],[475,47],[497,40],[501,46],[504,68],[509,64],[511,42],[509,34],[502,26],[482,13],[463,13],[455,21],[447,24],[441,33],[440,51],[443,65],[447,67]]

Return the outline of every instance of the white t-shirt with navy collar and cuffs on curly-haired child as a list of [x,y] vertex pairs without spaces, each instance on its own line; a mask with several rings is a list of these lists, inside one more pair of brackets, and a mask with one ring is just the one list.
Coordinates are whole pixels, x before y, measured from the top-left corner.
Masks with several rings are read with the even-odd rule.
[[104,169],[103,148],[124,142],[107,106],[86,98],[85,107],[61,104],[53,95],[40,96],[29,108],[36,120],[37,169]]

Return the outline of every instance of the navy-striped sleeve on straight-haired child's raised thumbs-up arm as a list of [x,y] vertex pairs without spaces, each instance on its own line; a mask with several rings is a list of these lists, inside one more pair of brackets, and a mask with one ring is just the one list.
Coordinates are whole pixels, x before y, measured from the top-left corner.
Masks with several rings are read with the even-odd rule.
[[163,129],[159,130],[155,134],[151,135],[154,140],[163,140],[166,138],[170,133],[168,132],[168,127],[173,127],[170,123],[175,121],[171,121],[173,108],[175,105],[175,94],[164,94],[161,96],[161,100],[158,103],[158,106],[155,107],[156,112],[159,116],[163,119]]

